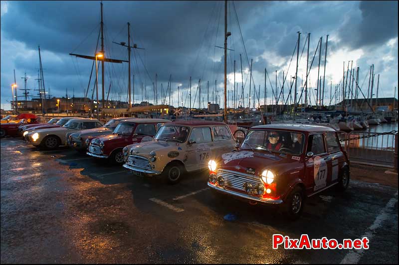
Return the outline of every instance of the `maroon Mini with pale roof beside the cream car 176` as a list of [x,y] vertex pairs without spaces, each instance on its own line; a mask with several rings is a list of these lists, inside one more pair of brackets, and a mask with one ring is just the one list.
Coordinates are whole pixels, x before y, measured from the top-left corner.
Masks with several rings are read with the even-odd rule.
[[[152,141],[164,119],[126,119],[119,122],[110,135],[86,139],[87,155],[109,159],[117,164],[124,162],[123,148],[133,143]],[[157,126],[158,125],[158,126]]]

